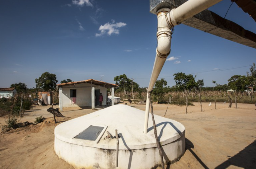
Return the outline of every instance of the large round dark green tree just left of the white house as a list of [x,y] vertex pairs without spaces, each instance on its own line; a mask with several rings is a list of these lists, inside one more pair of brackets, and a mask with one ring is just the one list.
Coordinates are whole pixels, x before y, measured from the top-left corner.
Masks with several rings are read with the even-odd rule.
[[38,88],[44,91],[54,90],[56,88],[57,79],[55,74],[44,72],[38,79],[35,80]]

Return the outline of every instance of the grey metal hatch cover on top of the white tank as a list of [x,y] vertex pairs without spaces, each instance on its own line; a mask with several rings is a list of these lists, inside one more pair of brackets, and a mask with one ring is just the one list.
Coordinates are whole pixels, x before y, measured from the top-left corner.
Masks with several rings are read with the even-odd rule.
[[96,141],[96,139],[98,138],[103,129],[104,127],[100,126],[90,126],[81,133],[79,133],[79,135],[75,136],[74,138]]

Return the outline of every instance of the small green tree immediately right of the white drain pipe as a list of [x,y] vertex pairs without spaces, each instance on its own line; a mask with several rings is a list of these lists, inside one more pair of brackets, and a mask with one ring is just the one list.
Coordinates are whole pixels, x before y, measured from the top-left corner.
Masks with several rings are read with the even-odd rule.
[[166,87],[166,85],[167,85],[167,82],[164,79],[157,80],[154,85],[152,94],[156,96],[158,103],[162,100],[162,97],[168,91],[168,88]]

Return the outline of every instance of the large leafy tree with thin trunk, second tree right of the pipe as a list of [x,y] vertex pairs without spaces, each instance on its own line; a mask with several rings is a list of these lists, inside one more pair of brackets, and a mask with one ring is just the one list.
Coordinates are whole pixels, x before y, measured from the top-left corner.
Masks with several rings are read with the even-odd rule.
[[[188,93],[193,89],[193,87],[197,86],[195,82],[195,77],[192,74],[186,75],[185,73],[179,72],[173,75],[174,80],[176,82],[176,86],[179,90],[185,91],[186,93],[186,106],[188,106]],[[186,107],[187,113],[187,107]]]

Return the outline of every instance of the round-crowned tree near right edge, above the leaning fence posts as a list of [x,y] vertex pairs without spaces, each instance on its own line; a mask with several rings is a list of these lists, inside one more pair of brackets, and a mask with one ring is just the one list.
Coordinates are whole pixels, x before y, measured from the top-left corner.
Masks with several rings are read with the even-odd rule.
[[[235,92],[235,101],[239,92],[247,89],[248,81],[246,76],[234,75],[228,80],[228,86]],[[237,108],[237,102],[236,102]]]

